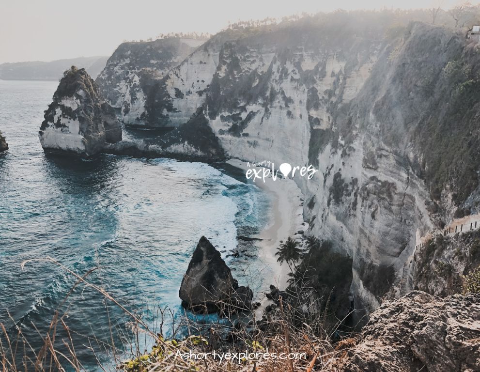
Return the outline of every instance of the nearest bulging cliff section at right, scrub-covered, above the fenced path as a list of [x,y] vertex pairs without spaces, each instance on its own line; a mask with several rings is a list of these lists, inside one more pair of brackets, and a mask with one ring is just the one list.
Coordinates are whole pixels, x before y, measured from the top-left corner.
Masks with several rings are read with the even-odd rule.
[[359,308],[373,310],[392,286],[397,295],[414,288],[417,235],[478,198],[474,50],[451,30],[410,24],[385,41],[362,89],[335,111],[331,140],[311,132],[310,149],[320,151],[310,161],[324,179],[305,183],[305,216],[317,218],[313,234],[353,257]]

